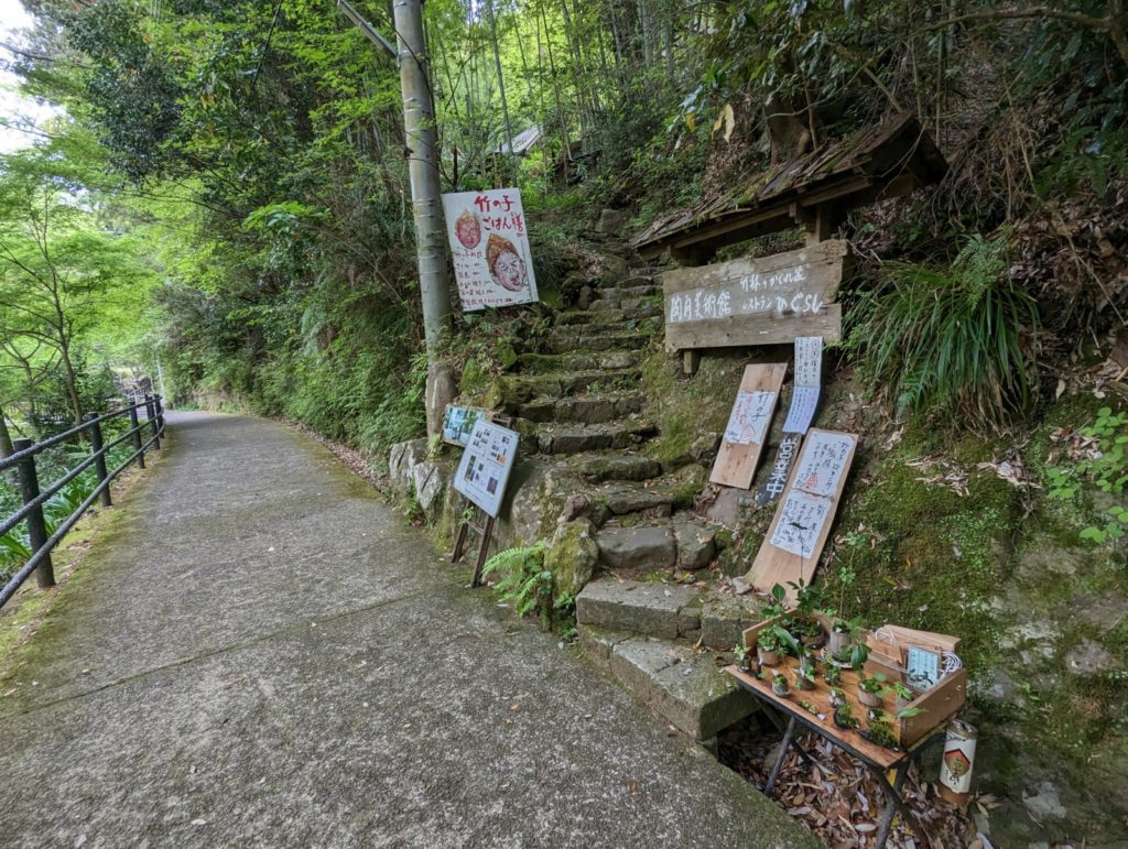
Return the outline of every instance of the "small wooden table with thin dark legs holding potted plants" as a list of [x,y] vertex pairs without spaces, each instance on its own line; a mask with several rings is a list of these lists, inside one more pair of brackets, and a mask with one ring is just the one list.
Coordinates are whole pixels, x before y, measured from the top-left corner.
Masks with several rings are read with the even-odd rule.
[[[779,748],[779,754],[776,757],[775,763],[772,766],[772,772],[768,776],[768,782],[764,787],[764,794],[766,796],[772,795],[772,790],[775,787],[776,778],[779,776],[779,768],[783,766],[783,760],[787,754],[787,750],[794,745],[799,755],[808,763],[814,764],[814,761],[808,754],[807,750],[803,749],[797,742],[795,742],[795,724],[805,726],[810,731],[813,731],[819,736],[826,739],[831,745],[841,749],[845,752],[857,758],[862,763],[866,766],[870,772],[873,773],[874,778],[878,780],[878,785],[885,793],[885,806],[882,808],[881,814],[878,817],[878,837],[875,849],[883,849],[885,841],[889,839],[889,830],[893,823],[893,814],[900,812],[901,817],[908,823],[909,828],[913,829],[920,837],[922,842],[927,842],[924,834],[919,831],[916,822],[916,817],[911,815],[909,810],[905,806],[905,801],[901,798],[901,787],[905,785],[905,778],[908,776],[909,764],[919,755],[924,748],[937,735],[943,734],[943,728],[934,728],[932,732],[925,734],[920,737],[914,745],[909,746],[907,750],[892,750],[885,749],[884,746],[871,743],[869,740],[863,737],[856,731],[846,731],[839,728],[834,723],[834,708],[830,707],[828,701],[829,688],[822,681],[821,674],[819,682],[813,690],[799,690],[794,687],[794,672],[797,666],[797,662],[793,657],[781,658],[781,664],[776,667],[772,667],[773,672],[782,672],[787,676],[787,683],[791,684],[791,695],[786,698],[776,696],[772,691],[772,684],[766,681],[760,681],[755,675],[747,672],[741,672],[737,666],[725,666],[724,671],[732,675],[737,683],[740,684],[744,690],[750,692],[760,701],[770,708],[768,710],[768,717],[775,723],[776,727],[781,727],[782,722],[777,719],[775,711],[779,714],[786,714],[787,724],[783,733],[783,745]],[[857,674],[852,670],[843,670],[841,674],[841,689],[847,695],[847,701],[851,708],[854,710],[854,716],[860,716],[858,710],[862,710],[861,716],[864,716],[864,708],[860,708],[857,699],[855,697],[856,691]],[[821,714],[826,718],[819,718],[818,714],[812,714],[805,708],[799,706],[800,700],[810,701],[818,714]],[[889,700],[887,698],[887,700]],[[891,705],[883,705],[882,709],[889,714],[892,714]],[[888,773],[893,772],[893,780],[890,781]]]

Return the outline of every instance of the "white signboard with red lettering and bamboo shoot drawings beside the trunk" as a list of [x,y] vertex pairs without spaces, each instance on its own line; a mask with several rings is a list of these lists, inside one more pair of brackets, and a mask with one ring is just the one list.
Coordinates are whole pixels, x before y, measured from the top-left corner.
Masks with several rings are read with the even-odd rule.
[[446,194],[442,210],[464,310],[537,300],[520,189]]

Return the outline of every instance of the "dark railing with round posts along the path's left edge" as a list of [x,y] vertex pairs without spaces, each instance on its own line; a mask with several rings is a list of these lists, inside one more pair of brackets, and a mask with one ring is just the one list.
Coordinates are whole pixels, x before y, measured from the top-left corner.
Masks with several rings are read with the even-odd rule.
[[[138,415],[138,410],[144,410],[146,417],[143,421]],[[130,430],[125,431],[125,433],[117,436],[112,442],[106,443],[103,440],[103,423],[121,417],[129,418]],[[143,441],[147,435],[144,433],[147,430],[151,432],[152,435],[150,435],[147,441]],[[17,478],[19,479],[20,495],[24,499],[24,506],[7,519],[0,521],[0,536],[14,530],[20,524],[20,522],[27,522],[27,538],[30,557],[8,580],[8,583],[3,585],[3,589],[0,590],[0,608],[8,603],[8,600],[11,599],[11,596],[24,584],[24,582],[27,581],[28,576],[30,576],[33,572],[35,573],[36,583],[41,587],[54,586],[55,573],[54,565],[51,561],[51,551],[59,545],[60,540],[67,536],[68,531],[74,527],[74,523],[82,516],[83,513],[86,513],[96,499],[100,499],[104,507],[108,507],[113,503],[109,495],[111,481],[124,471],[125,468],[129,467],[129,465],[134,460],[136,460],[138,467],[143,469],[144,452],[150,448],[153,450],[160,450],[160,437],[164,433],[165,410],[161,407],[160,396],[147,395],[144,400],[127,407],[122,407],[121,409],[111,410],[109,413],[103,413],[100,415],[97,413],[90,413],[83,419],[82,424],[50,439],[43,440],[42,442],[32,442],[30,440],[12,441],[12,446],[16,451],[10,457],[6,457],[0,460],[0,472],[7,471],[8,469],[16,470]],[[41,489],[39,477],[35,467],[36,456],[49,448],[62,444],[68,440],[82,435],[86,435],[90,442],[90,456],[73,468],[69,469],[62,475],[62,477],[52,483],[45,489]],[[126,441],[132,444],[133,453],[116,468],[107,468],[106,458],[109,452]],[[74,508],[69,516],[59,522],[54,532],[49,537],[47,523],[43,514],[43,505],[46,504],[50,498],[53,498],[55,495],[61,493],[63,487],[74,480],[91,466],[97,475],[98,485],[94,487],[94,490],[82,501],[81,504],[78,505],[78,507]]]

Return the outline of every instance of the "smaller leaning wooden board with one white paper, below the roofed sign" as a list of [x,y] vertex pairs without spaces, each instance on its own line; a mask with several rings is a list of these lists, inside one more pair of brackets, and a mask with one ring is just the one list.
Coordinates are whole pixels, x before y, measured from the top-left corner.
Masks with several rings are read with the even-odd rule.
[[768,427],[779,400],[787,363],[765,363],[744,368],[729,426],[717,452],[710,481],[747,489],[764,450]]

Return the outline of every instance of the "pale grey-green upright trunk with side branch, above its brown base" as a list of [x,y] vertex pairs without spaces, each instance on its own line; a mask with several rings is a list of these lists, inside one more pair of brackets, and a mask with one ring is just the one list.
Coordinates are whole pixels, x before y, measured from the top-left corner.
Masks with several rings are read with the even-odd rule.
[[407,169],[415,218],[415,250],[423,300],[423,333],[430,359],[439,336],[450,324],[450,274],[447,265],[447,223],[439,188],[439,126],[428,77],[423,2],[394,0],[396,48],[361,17],[349,0],[337,0],[337,3],[369,41],[396,59],[399,65]]

